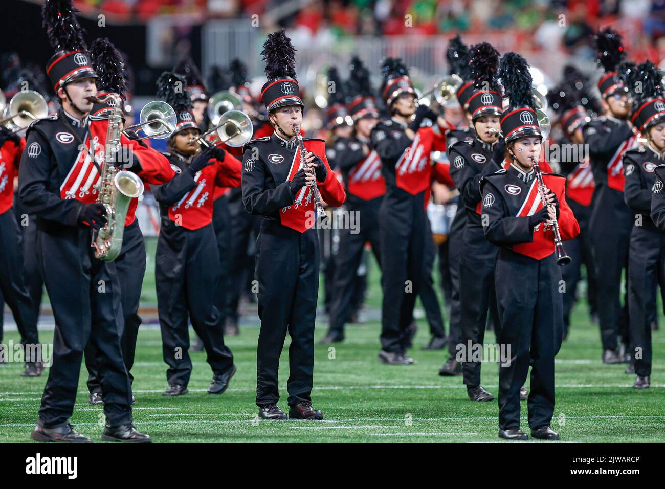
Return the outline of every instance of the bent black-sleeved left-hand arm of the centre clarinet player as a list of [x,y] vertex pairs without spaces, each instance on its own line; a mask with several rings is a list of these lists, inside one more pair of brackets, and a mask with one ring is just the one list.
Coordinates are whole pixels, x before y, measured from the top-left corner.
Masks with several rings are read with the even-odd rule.
[[265,188],[265,168],[260,158],[252,158],[250,148],[243,155],[243,204],[249,214],[269,216],[293,202],[296,192],[295,182],[283,182],[275,188]]

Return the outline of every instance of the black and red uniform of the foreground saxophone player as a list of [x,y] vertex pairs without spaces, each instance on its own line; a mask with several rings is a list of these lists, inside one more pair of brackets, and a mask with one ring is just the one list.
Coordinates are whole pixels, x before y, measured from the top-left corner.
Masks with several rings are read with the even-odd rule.
[[[47,428],[65,425],[72,414],[88,339],[98,351],[108,423],[132,422],[118,271],[114,262],[94,257],[90,228],[80,227],[86,204],[97,199],[107,127],[108,121],[92,125],[61,108],[31,124],[21,158],[19,198],[37,215],[37,251],[55,316],[53,365],[39,411]],[[138,153],[131,157],[140,163]]]

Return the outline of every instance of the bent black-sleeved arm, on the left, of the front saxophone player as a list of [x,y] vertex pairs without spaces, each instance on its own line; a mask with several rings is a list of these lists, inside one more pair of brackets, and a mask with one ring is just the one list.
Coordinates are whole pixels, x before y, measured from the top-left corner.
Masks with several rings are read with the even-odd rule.
[[37,146],[23,152],[19,166],[19,198],[25,212],[66,226],[76,226],[85,204],[76,199],[62,199],[49,188],[51,172],[55,170],[51,168],[51,146],[35,128],[29,131],[26,144]]

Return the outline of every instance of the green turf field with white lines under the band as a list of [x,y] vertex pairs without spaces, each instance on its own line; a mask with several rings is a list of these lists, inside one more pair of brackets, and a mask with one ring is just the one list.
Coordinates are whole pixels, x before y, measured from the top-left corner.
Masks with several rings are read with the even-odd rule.
[[[150,265],[149,265],[150,267]],[[150,268],[149,268],[150,270]],[[146,285],[152,281],[149,271]],[[369,307],[380,299],[376,273],[372,273]],[[148,287],[149,289],[149,287]],[[148,297],[150,297],[148,290]],[[575,311],[569,339],[557,356],[557,406],[553,428],[562,442],[665,441],[665,333],[654,333],[652,387],[636,391],[634,375],[625,365],[602,365],[597,326],[591,325],[584,304]],[[661,325],[664,321],[661,317]],[[497,403],[471,403],[460,377],[439,377],[446,358],[442,351],[420,351],[428,340],[426,322],[410,352],[412,366],[378,363],[379,323],[350,325],[347,340],[315,348],[313,401],[324,421],[268,421],[257,418],[254,404],[256,340],[258,328],[241,327],[241,335],[227,339],[235,355],[237,374],[223,395],[205,392],[211,371],[204,353],[193,353],[194,371],[184,397],[162,397],[166,367],[160,333],[142,329],[138,337],[133,373],[136,426],[155,442],[498,442]],[[317,323],[316,338],[327,325]],[[52,333],[41,332],[41,341]],[[5,333],[5,343],[19,337]],[[493,334],[487,333],[487,342]],[[287,409],[288,344],[281,363],[280,405]],[[46,381],[19,377],[22,365],[0,367],[0,442],[29,441]],[[483,385],[497,394],[496,364],[483,366]],[[81,370],[78,403],[71,422],[98,440],[102,433],[101,407],[87,404],[87,373]],[[527,382],[528,386],[528,382]],[[526,401],[522,402],[522,428],[527,429]],[[529,441],[531,442],[531,441]]]

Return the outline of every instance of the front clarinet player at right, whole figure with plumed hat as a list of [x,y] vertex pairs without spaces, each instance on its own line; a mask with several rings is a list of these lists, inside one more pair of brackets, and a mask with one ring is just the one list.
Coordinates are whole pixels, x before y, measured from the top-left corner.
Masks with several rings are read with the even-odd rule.
[[[565,178],[543,174],[539,187],[534,164],[541,159],[542,132],[531,94],[529,65],[507,53],[499,73],[510,104],[501,116],[507,168],[483,176],[481,216],[485,236],[499,246],[495,290],[501,319],[498,342],[507,345],[509,365],[499,368],[499,437],[528,438],[519,427],[520,389],[531,365],[527,406],[531,436],[558,440],[550,425],[554,413],[554,357],[563,337],[562,299],[558,292],[553,232],[558,223],[562,240],[575,238],[579,226],[565,200]],[[547,202],[545,206],[542,198]],[[517,286],[519,284],[519,286]]]

